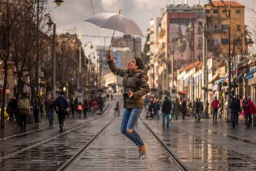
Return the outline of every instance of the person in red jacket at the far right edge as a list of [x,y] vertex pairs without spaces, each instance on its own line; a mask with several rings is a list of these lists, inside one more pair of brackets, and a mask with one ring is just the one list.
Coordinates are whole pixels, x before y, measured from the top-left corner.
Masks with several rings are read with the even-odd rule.
[[255,113],[255,105],[250,96],[247,99],[244,98],[243,109],[247,128],[250,128],[252,126],[252,114]]

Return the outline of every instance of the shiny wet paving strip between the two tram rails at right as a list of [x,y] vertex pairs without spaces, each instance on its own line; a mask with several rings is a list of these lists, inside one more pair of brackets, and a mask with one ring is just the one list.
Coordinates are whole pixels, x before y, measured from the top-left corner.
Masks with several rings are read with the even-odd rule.
[[[200,138],[189,135],[182,131],[182,124],[171,123],[170,128],[164,128],[161,126],[161,122],[146,121],[146,123],[151,126],[164,144],[177,154],[177,157],[189,170],[256,170],[256,161],[252,163],[246,158],[240,158],[200,140]],[[202,136],[207,137],[207,134]]]

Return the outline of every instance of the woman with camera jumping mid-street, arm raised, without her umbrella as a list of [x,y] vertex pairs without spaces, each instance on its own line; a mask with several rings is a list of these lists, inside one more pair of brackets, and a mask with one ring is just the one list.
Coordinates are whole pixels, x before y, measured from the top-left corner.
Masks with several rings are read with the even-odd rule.
[[150,92],[147,84],[147,74],[143,72],[143,62],[140,58],[135,57],[127,64],[127,69],[116,68],[116,65],[108,50],[106,57],[110,70],[120,77],[124,77],[124,115],[121,123],[121,132],[134,144],[138,146],[139,158],[145,158],[147,145],[141,140],[140,135],[134,129],[143,108],[143,96]]

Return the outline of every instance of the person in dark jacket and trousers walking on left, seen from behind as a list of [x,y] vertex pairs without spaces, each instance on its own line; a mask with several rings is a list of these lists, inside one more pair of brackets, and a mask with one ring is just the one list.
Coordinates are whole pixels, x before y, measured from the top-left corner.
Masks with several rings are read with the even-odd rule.
[[55,103],[54,103],[54,107],[56,110],[56,113],[58,114],[58,120],[59,120],[59,124],[60,124],[60,131],[63,130],[63,124],[65,121],[65,117],[67,115],[68,112],[68,101],[64,96],[64,92],[61,91],[60,92],[60,96],[58,96],[58,98],[56,98]]

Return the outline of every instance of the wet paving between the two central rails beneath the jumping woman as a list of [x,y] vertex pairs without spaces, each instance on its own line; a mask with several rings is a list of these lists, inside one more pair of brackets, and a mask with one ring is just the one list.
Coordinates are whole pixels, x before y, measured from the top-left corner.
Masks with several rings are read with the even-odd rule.
[[149,146],[145,160],[138,158],[138,147],[120,133],[119,127],[120,117],[115,119],[69,170],[177,170],[141,121],[138,121],[136,130]]

